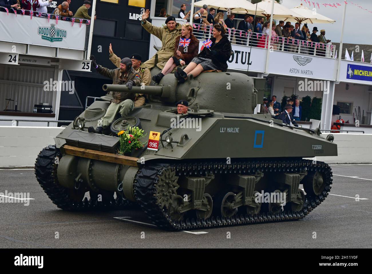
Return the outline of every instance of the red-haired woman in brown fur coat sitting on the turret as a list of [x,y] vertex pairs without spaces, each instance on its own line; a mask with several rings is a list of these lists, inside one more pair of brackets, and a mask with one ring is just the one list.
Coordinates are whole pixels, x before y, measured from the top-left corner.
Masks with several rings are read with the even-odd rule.
[[[192,31],[193,27],[189,23],[182,25],[181,35],[176,38],[176,43],[174,44],[174,55],[165,64],[164,69],[153,76],[155,83],[159,83],[164,75],[171,73],[175,67],[189,64],[198,55],[199,40],[192,34]],[[179,45],[181,38],[190,39],[190,44],[185,47]]]

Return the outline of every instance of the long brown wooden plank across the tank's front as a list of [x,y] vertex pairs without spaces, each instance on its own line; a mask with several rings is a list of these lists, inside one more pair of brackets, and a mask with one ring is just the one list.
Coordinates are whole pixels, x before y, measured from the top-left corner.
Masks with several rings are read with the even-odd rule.
[[138,158],[135,157],[112,154],[87,148],[72,147],[70,145],[64,145],[63,148],[65,153],[69,155],[137,167]]

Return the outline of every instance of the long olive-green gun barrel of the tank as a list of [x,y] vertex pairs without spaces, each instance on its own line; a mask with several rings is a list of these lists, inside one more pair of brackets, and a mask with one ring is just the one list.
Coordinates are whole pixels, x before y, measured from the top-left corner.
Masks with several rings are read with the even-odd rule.
[[102,86],[104,91],[116,91],[116,92],[131,92],[139,94],[157,95],[161,97],[169,97],[170,87],[169,86],[133,86],[132,89],[128,89],[126,85],[110,85],[105,84]]

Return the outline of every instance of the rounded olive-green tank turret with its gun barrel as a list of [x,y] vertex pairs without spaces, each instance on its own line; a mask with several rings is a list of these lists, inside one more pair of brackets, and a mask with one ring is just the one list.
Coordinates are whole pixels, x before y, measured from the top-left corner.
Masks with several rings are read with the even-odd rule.
[[224,113],[252,114],[257,105],[254,78],[237,72],[205,72],[196,78],[189,77],[183,84],[178,84],[173,74],[167,74],[156,86],[133,86],[131,90],[125,85],[103,85],[102,88],[148,94],[150,101],[170,105],[186,100],[190,107],[199,104],[201,109]]

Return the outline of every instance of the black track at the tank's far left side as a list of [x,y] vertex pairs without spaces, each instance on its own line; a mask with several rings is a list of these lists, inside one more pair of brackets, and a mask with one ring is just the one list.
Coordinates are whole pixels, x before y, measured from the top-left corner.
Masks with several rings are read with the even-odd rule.
[[35,175],[44,192],[58,208],[68,211],[123,210],[132,205],[125,198],[112,198],[107,202],[88,200],[86,197],[80,202],[72,200],[68,189],[58,183],[56,157],[61,158],[62,155],[55,145],[43,148],[35,161]]

